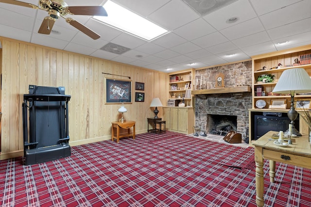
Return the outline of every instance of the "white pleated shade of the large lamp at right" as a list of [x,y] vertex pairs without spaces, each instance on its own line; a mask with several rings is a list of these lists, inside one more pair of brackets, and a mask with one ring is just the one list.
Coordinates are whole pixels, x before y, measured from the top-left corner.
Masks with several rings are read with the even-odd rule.
[[311,92],[311,78],[304,68],[284,70],[273,92],[279,94]]

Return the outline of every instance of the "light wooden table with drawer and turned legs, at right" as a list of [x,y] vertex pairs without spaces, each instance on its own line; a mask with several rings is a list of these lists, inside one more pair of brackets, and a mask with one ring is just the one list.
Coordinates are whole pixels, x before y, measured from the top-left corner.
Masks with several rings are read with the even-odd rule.
[[256,140],[255,145],[255,161],[256,161],[256,204],[258,207],[263,207],[263,160],[269,159],[269,175],[270,182],[274,183],[276,175],[276,161],[291,164],[294,166],[311,169],[311,147],[309,136],[302,134],[301,137],[292,138],[293,144],[288,147],[276,146],[272,138],[272,134],[277,131],[269,131]]

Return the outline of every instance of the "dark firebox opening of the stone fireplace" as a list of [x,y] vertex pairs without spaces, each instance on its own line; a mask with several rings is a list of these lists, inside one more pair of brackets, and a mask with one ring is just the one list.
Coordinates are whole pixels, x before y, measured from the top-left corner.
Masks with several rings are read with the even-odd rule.
[[237,116],[207,114],[207,133],[225,136],[228,131],[237,130]]

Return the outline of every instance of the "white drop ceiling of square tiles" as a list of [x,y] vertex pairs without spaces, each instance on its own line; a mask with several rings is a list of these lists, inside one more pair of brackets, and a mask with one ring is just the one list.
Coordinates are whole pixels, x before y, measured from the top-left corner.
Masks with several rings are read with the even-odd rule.
[[[21,1],[38,5],[38,0]],[[56,20],[50,35],[39,34],[47,12],[0,3],[0,36],[162,72],[242,61],[253,55],[311,44],[311,0],[112,1],[170,33],[148,42],[92,16],[68,15],[101,38],[91,39],[63,18]],[[223,5],[225,1],[230,2]],[[94,6],[104,5],[105,0],[66,3]],[[203,7],[210,4],[223,6],[205,12]],[[107,44],[128,50],[121,54],[109,52],[102,49]]]

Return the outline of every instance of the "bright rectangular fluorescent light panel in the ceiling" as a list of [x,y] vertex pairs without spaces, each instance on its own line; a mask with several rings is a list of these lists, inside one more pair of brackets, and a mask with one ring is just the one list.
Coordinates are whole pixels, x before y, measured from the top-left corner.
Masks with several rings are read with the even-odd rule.
[[108,0],[104,4],[108,16],[94,16],[109,26],[136,35],[148,41],[168,33],[167,30],[147,19]]

